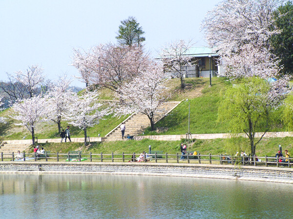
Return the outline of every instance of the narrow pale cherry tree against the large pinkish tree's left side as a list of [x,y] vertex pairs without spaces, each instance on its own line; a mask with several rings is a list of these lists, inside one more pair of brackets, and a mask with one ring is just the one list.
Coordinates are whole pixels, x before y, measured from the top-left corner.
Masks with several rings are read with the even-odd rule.
[[90,83],[90,78],[92,76],[92,70],[88,68],[90,61],[90,50],[88,52],[81,52],[78,49],[73,49],[73,61],[72,65],[77,68],[80,73],[80,76],[75,76],[85,83],[85,86],[88,87]]

